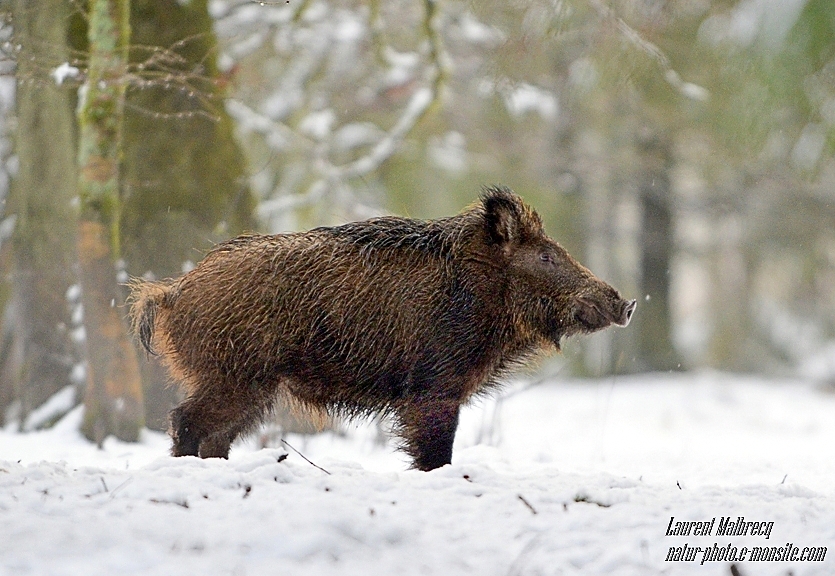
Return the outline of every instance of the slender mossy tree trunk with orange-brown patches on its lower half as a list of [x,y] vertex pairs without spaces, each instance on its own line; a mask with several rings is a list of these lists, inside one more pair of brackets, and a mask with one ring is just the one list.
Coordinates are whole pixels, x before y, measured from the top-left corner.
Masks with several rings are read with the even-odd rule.
[[78,259],[87,334],[82,432],[101,445],[113,434],[138,439],[143,425],[136,353],[122,318],[119,258],[119,154],[130,33],[128,0],[92,0],[90,62],[79,106]]

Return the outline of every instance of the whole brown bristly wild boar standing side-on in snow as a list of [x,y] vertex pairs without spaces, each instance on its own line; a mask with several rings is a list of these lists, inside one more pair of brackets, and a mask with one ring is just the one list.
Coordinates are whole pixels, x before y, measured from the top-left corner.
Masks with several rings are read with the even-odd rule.
[[384,414],[414,466],[450,462],[462,404],[531,354],[635,308],[506,188],[439,220],[248,235],[191,272],[133,284],[134,331],[185,400],[175,456],[226,457],[276,401]]

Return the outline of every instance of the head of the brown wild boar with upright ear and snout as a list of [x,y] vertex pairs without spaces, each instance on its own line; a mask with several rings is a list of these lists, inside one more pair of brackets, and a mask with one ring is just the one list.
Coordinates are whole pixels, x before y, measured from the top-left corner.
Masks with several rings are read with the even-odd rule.
[[629,324],[635,300],[623,299],[549,238],[521,198],[489,188],[482,204],[487,242],[507,275],[506,303],[517,330],[559,348],[563,337]]

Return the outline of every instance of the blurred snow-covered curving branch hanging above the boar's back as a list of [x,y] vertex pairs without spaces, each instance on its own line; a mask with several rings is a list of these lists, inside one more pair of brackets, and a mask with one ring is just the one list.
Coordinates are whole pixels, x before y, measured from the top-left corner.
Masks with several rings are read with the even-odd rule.
[[[304,7],[300,6],[299,10]],[[365,178],[390,159],[402,146],[403,141],[414,130],[417,124],[434,105],[440,102],[441,93],[448,76],[447,56],[444,51],[441,35],[438,31],[438,7],[435,2],[426,0],[422,4],[423,13],[418,37],[424,43],[422,72],[416,73],[410,70],[412,77],[419,80],[401,81],[401,85],[409,87],[414,82],[416,87],[412,88],[408,101],[401,109],[398,117],[387,130],[365,130],[367,133],[378,132],[373,142],[362,140],[361,143],[348,145],[349,150],[365,148],[365,152],[359,157],[345,163],[335,162],[334,159],[340,155],[344,156],[345,143],[338,141],[337,132],[327,128],[325,132],[310,138],[304,132],[304,118],[295,123],[288,123],[284,118],[293,117],[298,119],[300,112],[306,105],[301,101],[294,104],[294,94],[308,95],[316,92],[313,87],[315,82],[322,80],[322,75],[330,73],[327,66],[328,59],[332,57],[332,47],[327,42],[311,43],[303,47],[301,54],[294,54],[292,61],[288,64],[285,74],[280,81],[283,87],[282,94],[286,98],[282,100],[279,110],[280,114],[264,114],[255,111],[251,106],[235,101],[229,103],[228,109],[241,123],[242,131],[245,133],[260,134],[269,147],[276,151],[286,153],[294,149],[309,159],[307,170],[310,172],[312,182],[307,185],[304,192],[291,193],[285,184],[279,184],[272,192],[272,199],[264,201],[259,213],[266,219],[276,217],[288,210],[296,210],[302,207],[316,204],[324,198],[336,201],[344,208],[355,214],[379,214],[379,208],[366,206],[358,200],[352,192],[351,180]],[[286,18],[286,14],[285,14]],[[290,27],[287,34],[289,38],[300,35],[301,31],[293,28],[297,25],[297,18],[290,20],[286,26]],[[392,49],[384,35],[384,23],[380,14],[379,2],[373,2],[367,15],[367,30],[371,35],[371,44],[376,66],[393,67],[402,66],[402,62],[409,60]],[[327,27],[323,27],[327,28]],[[420,57],[415,55],[415,63],[420,62]],[[385,68],[384,68],[385,70]],[[379,70],[378,70],[379,71]],[[400,86],[400,85],[399,85]],[[338,94],[328,95],[336,97]],[[345,125],[342,128],[354,128],[361,130],[359,124]]]

